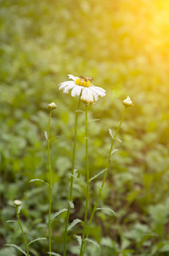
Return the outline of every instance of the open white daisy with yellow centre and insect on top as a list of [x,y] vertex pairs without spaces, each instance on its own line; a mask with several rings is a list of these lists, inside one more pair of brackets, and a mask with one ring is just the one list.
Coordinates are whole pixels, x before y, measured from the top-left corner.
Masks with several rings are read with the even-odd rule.
[[93,78],[86,78],[83,76],[80,77],[74,77],[71,74],[68,74],[69,79],[72,79],[72,81],[66,81],[61,84],[59,84],[59,90],[63,89],[64,93],[68,93],[70,89],[71,90],[71,96],[81,96],[81,100],[83,102],[87,103],[93,103],[94,101],[98,101],[98,96],[105,96],[105,90],[94,86],[91,82],[93,81]]

